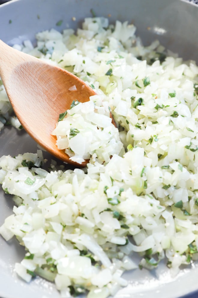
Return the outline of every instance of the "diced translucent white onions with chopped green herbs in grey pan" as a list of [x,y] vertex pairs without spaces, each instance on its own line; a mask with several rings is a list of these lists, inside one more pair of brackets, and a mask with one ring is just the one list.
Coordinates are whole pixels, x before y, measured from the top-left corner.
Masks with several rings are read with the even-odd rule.
[[[198,258],[198,67],[158,41],[144,47],[133,25],[109,26],[104,18],[85,19],[76,35],[52,29],[37,40],[34,49],[30,41],[15,47],[84,80],[98,94],[88,105],[104,117],[110,107],[119,135],[113,127],[106,138],[100,124],[101,139],[90,133],[91,149],[82,153],[80,121],[71,121],[94,121],[79,104],[59,121],[68,121],[68,130],[57,144],[70,150],[72,140],[71,158],[91,156],[87,169],[65,171],[54,162],[42,169],[41,151],[1,157],[0,182],[15,206],[0,233],[26,247],[16,272],[26,281],[55,281],[62,297],[88,290],[88,298],[114,295],[127,285],[122,273],[138,265],[153,269],[164,259],[175,276]],[[5,122],[10,106],[1,89]],[[132,252],[141,254],[140,264]]]

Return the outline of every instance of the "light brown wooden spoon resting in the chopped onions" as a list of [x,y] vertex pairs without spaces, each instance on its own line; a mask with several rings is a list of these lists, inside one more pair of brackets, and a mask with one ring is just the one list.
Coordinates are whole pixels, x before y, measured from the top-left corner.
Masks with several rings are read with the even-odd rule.
[[[70,160],[64,150],[59,150],[55,144],[56,137],[51,132],[59,114],[69,109],[73,100],[87,102],[96,93],[74,74],[15,50],[1,40],[0,76],[13,110],[26,132],[58,159],[85,166],[88,160],[79,165]],[[70,91],[73,85],[76,91]]]

